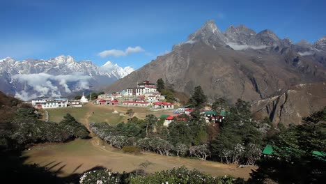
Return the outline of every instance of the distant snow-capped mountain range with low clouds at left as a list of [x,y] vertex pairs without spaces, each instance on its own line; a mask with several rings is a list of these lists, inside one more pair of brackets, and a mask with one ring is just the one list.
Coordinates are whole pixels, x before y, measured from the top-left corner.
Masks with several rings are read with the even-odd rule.
[[133,72],[107,61],[96,66],[92,61],[75,61],[72,56],[53,59],[0,59],[0,91],[22,100],[40,96],[67,96],[74,91],[108,85]]

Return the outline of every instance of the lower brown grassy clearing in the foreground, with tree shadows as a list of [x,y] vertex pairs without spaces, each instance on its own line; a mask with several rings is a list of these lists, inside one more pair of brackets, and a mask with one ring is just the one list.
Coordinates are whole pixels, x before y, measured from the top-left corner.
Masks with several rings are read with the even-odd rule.
[[[219,162],[166,157],[155,153],[132,155],[122,153],[98,138],[77,139],[67,144],[42,144],[24,151],[23,156],[28,157],[26,164],[38,163],[58,173],[58,176],[82,173],[98,166],[119,172],[144,169],[148,173],[185,166],[189,169],[199,169],[212,176],[231,175],[247,179],[251,169],[256,169],[256,167],[238,168]],[[141,167],[143,162],[149,163],[148,167]]]

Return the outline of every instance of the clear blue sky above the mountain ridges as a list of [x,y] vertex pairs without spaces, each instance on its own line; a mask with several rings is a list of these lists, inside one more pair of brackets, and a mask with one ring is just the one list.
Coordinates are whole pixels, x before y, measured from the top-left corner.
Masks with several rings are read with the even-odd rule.
[[[61,54],[140,68],[207,20],[245,24],[314,43],[326,35],[326,1],[0,1],[0,58]],[[138,46],[138,47],[137,47]],[[127,49],[130,47],[130,49]],[[121,50],[99,55],[105,50]],[[111,54],[111,55],[110,55]]]

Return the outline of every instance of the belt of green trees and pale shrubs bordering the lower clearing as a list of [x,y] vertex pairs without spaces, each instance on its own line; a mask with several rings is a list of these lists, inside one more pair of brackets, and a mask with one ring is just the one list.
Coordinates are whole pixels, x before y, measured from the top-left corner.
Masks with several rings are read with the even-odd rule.
[[238,100],[233,107],[219,102],[221,99],[214,104],[227,107],[230,112],[223,123],[206,123],[197,109],[190,117],[180,115],[169,127],[163,125],[164,119],[150,114],[144,120],[132,117],[116,127],[91,123],[90,128],[115,148],[138,146],[160,155],[254,164],[263,148],[261,124],[251,121],[248,102]]

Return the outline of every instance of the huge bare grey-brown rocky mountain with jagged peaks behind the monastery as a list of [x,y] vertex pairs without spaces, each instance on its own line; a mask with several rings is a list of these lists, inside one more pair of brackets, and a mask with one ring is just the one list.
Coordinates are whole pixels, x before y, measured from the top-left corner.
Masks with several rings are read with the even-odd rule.
[[[209,21],[185,43],[174,45],[169,54],[119,79],[107,91],[121,91],[137,81],[154,82],[162,77],[188,95],[194,86],[201,85],[210,99],[254,101],[284,93],[295,84],[326,80],[322,63],[300,56],[288,46],[289,40],[281,40],[269,30],[255,34],[244,26],[231,29],[222,33]],[[235,46],[240,49],[233,49]]]

